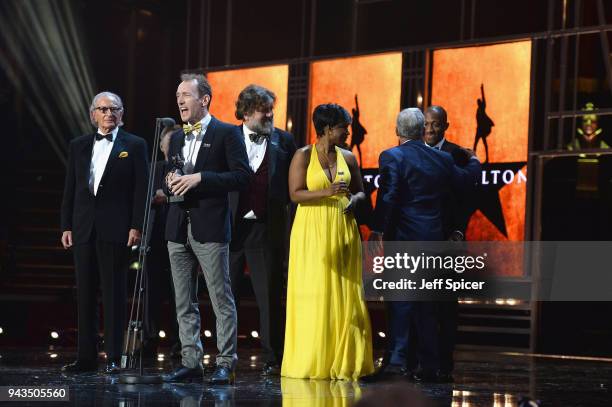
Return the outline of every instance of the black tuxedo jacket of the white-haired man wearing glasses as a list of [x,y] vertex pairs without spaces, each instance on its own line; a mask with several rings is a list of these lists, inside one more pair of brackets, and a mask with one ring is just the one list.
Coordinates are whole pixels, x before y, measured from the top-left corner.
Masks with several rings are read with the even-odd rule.
[[61,209],[62,231],[73,244],[90,239],[127,244],[130,229],[142,230],[147,188],[147,144],[133,134],[117,132],[97,195],[89,191],[95,133],[70,142]]

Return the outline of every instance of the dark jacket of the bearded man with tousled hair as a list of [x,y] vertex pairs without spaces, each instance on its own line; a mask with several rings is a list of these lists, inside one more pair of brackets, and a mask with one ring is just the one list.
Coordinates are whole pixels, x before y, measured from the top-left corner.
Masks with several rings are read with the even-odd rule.
[[[235,131],[244,140],[242,125]],[[268,241],[273,246],[286,245],[289,218],[289,165],[296,146],[293,136],[286,131],[274,128],[266,146],[268,158],[268,196],[266,205],[266,223],[268,226]],[[246,147],[245,147],[246,151]],[[232,227],[236,225],[240,192],[230,193],[232,210]]]

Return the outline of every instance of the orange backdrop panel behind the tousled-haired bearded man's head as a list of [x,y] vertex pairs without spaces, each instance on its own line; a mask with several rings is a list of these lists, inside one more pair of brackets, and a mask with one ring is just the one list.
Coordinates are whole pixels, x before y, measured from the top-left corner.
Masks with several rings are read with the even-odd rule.
[[236,99],[242,89],[255,84],[276,94],[274,125],[280,129],[286,128],[288,65],[209,72],[207,77],[213,90],[210,112],[217,119],[228,123],[240,123],[234,115]]

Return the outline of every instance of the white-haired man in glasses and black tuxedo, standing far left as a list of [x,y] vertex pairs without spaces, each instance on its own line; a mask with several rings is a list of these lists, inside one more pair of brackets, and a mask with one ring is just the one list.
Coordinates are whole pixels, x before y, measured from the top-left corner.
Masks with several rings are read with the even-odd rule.
[[122,353],[129,247],[138,244],[147,185],[147,146],[121,130],[123,103],[102,92],[91,103],[97,133],[70,143],[62,201],[62,245],[72,247],[77,282],[78,355],[65,372],[97,367],[97,287],[102,286],[106,372]]

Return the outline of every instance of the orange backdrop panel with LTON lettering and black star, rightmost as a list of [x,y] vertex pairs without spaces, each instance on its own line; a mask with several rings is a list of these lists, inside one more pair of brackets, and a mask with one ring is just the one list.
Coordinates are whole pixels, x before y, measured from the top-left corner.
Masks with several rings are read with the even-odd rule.
[[431,104],[448,112],[447,138],[483,163],[468,240],[524,239],[530,78],[531,41],[433,52]]

